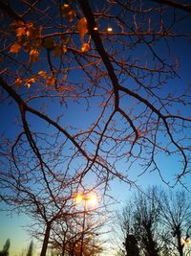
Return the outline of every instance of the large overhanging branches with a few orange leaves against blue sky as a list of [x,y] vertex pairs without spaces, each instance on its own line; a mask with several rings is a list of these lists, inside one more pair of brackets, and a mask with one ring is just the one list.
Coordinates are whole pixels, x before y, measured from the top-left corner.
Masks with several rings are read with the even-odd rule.
[[[81,177],[93,172],[106,183],[113,175],[131,182],[135,162],[163,177],[158,155],[177,158],[177,181],[189,174],[189,90],[168,83],[179,76],[171,40],[190,35],[181,27],[187,12],[149,1],[1,1],[1,8],[2,102],[18,109],[12,156],[22,141],[43,168],[49,151],[70,159],[69,169],[77,160]],[[61,116],[73,119],[74,103],[87,119],[70,127]],[[45,150],[47,141],[59,146]]]

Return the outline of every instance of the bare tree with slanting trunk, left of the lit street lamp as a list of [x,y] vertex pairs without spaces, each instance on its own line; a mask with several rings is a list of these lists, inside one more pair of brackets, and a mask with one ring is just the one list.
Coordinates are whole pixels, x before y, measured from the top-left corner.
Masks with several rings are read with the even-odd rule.
[[[22,153],[19,151],[19,159]],[[3,200],[11,206],[11,211],[27,214],[37,230],[41,228],[43,243],[40,255],[46,255],[53,221],[63,220],[74,212],[76,185],[73,187],[72,180],[67,179],[64,172],[60,175],[56,172],[56,176],[55,173],[45,175],[44,167],[39,167],[35,159],[32,163],[31,157],[24,153],[25,158],[22,162],[18,160],[16,166],[10,162],[8,167],[9,159],[4,165],[4,172],[1,173]],[[4,210],[7,211],[7,208]]]

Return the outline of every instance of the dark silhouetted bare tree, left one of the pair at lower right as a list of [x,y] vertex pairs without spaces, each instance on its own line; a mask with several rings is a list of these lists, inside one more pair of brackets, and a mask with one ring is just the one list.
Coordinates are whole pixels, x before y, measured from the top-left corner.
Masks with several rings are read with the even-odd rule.
[[[149,188],[134,195],[118,215],[119,230],[125,255],[160,255],[160,203],[159,190]],[[121,243],[120,243],[121,244]]]

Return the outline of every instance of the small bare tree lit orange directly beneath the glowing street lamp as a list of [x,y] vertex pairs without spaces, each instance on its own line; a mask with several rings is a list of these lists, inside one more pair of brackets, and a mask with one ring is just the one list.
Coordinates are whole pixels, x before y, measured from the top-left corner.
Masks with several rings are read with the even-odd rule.
[[102,227],[107,221],[107,208],[100,207],[99,202],[97,206],[87,209],[86,212],[84,209],[75,211],[73,215],[63,220],[54,221],[50,238],[51,247],[62,256],[74,256],[80,255],[80,247],[83,245],[83,254],[96,255],[97,251],[102,249],[100,239]]

